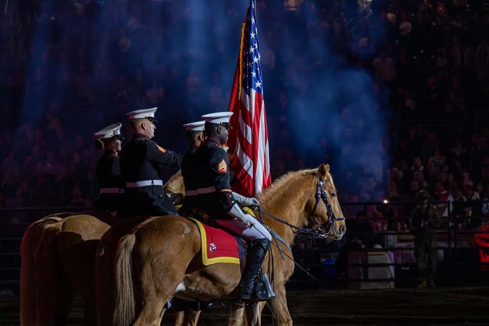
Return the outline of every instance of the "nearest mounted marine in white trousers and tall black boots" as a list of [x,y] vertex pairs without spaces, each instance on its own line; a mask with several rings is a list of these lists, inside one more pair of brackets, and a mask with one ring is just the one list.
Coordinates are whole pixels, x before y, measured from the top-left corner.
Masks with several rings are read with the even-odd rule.
[[[271,235],[255,218],[240,206],[258,206],[258,200],[233,193],[230,185],[229,157],[222,148],[227,142],[229,117],[232,112],[217,112],[203,115],[207,138],[194,153],[191,169],[197,186],[196,207],[202,209],[217,224],[253,242],[238,294],[248,300],[254,290],[262,263],[270,247]],[[238,204],[238,202],[240,204]],[[273,292],[270,298],[274,297]]]

